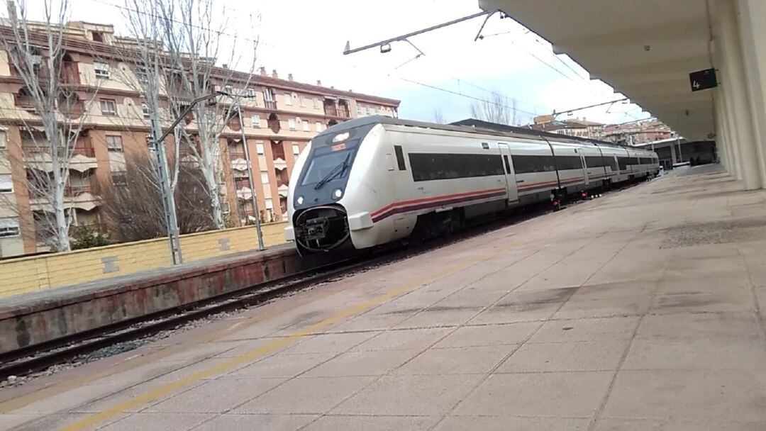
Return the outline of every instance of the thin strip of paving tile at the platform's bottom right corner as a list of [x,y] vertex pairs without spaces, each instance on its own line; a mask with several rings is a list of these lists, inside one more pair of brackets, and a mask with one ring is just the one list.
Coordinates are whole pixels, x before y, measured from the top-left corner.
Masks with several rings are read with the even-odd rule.
[[762,431],[766,422],[635,420],[601,418],[594,431]]

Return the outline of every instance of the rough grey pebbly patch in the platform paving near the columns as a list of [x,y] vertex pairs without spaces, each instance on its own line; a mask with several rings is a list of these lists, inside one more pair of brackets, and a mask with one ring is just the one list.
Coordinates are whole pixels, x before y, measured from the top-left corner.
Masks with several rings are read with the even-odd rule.
[[666,229],[662,249],[766,239],[766,218],[712,221]]

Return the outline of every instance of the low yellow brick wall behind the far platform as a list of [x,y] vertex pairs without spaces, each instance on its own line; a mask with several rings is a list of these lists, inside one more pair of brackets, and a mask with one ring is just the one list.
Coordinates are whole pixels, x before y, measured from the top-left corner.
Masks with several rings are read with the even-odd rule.
[[[266,246],[284,243],[284,223],[262,226]],[[222,250],[226,246],[228,250]],[[254,226],[191,233],[181,237],[184,262],[255,250],[257,247],[258,239]],[[105,273],[105,264],[102,261],[105,258],[116,259],[114,265],[118,270]],[[0,298],[138,273],[146,269],[169,266],[171,262],[167,238],[2,260]]]

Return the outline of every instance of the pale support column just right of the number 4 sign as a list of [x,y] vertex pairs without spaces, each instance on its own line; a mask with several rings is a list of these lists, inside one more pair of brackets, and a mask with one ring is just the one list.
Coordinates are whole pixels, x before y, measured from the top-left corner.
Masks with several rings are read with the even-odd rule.
[[719,0],[719,39],[723,64],[722,86],[725,100],[728,104],[727,114],[730,123],[735,128],[735,149],[738,150],[738,165],[741,180],[745,190],[761,188],[761,169],[758,162],[758,151],[750,115],[750,101],[745,84],[744,63],[742,61],[741,44],[734,6],[734,0]]

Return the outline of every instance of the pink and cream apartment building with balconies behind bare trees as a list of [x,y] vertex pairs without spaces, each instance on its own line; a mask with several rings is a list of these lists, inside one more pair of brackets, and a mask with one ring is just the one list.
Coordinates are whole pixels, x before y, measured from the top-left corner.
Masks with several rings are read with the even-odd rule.
[[[126,158],[146,151],[149,132],[149,113],[141,93],[125,80],[132,72],[122,48],[131,43],[114,34],[112,25],[70,22],[64,27],[61,80],[76,95],[67,100],[70,116],[82,124],[70,158],[65,201],[74,225],[90,225],[106,233],[109,226],[100,214],[100,192],[124,184]],[[248,96],[218,142],[221,201],[233,225],[254,217],[264,221],[286,217],[296,156],[317,132],[358,116],[397,116],[398,100],[323,87],[319,81],[300,83],[291,74],[283,79],[277,70],[229,76],[226,88],[220,90]],[[44,142],[40,113],[35,112],[25,83],[5,52],[0,53],[0,103],[0,257],[47,251],[36,219],[51,205],[29,190],[26,178],[32,169],[51,170],[51,163],[39,145]],[[193,128],[195,119],[188,119],[186,125]],[[188,152],[181,151],[181,156],[182,162],[188,161]],[[248,163],[255,184],[250,184]],[[260,214],[255,214],[251,189]]]

